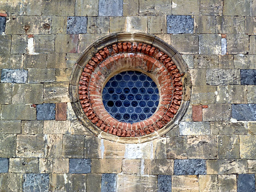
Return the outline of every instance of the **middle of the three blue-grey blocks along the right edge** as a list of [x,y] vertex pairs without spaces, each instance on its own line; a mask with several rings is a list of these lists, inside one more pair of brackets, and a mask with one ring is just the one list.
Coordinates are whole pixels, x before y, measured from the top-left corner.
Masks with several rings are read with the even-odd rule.
[[256,121],[256,104],[232,104],[232,118],[239,121]]

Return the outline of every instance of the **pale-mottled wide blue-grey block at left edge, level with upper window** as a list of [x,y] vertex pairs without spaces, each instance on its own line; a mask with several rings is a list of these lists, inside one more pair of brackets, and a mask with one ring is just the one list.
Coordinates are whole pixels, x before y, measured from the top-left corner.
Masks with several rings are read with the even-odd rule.
[[27,79],[27,70],[3,69],[1,73],[1,83],[26,83]]

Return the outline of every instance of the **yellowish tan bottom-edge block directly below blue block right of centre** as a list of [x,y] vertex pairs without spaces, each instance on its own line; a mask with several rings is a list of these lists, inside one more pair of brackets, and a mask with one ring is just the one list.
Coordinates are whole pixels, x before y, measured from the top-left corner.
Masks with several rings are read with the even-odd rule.
[[197,175],[173,175],[172,192],[191,191],[199,192]]

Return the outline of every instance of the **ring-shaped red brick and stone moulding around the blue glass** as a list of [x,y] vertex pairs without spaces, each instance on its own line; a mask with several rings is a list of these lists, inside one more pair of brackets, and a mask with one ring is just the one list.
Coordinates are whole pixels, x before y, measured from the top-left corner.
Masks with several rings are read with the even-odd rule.
[[[102,102],[105,84],[123,71],[145,73],[157,84],[155,113],[140,122],[113,118]],[[92,44],[77,61],[70,80],[76,116],[98,137],[120,143],[143,143],[174,128],[189,106],[190,74],[180,54],[154,35],[117,33]]]

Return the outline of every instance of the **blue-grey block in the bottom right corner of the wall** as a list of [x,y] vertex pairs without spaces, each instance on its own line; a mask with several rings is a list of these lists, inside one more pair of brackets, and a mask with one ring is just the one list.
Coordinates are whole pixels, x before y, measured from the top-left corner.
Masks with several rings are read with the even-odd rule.
[[255,175],[254,174],[238,175],[237,192],[255,192]]

